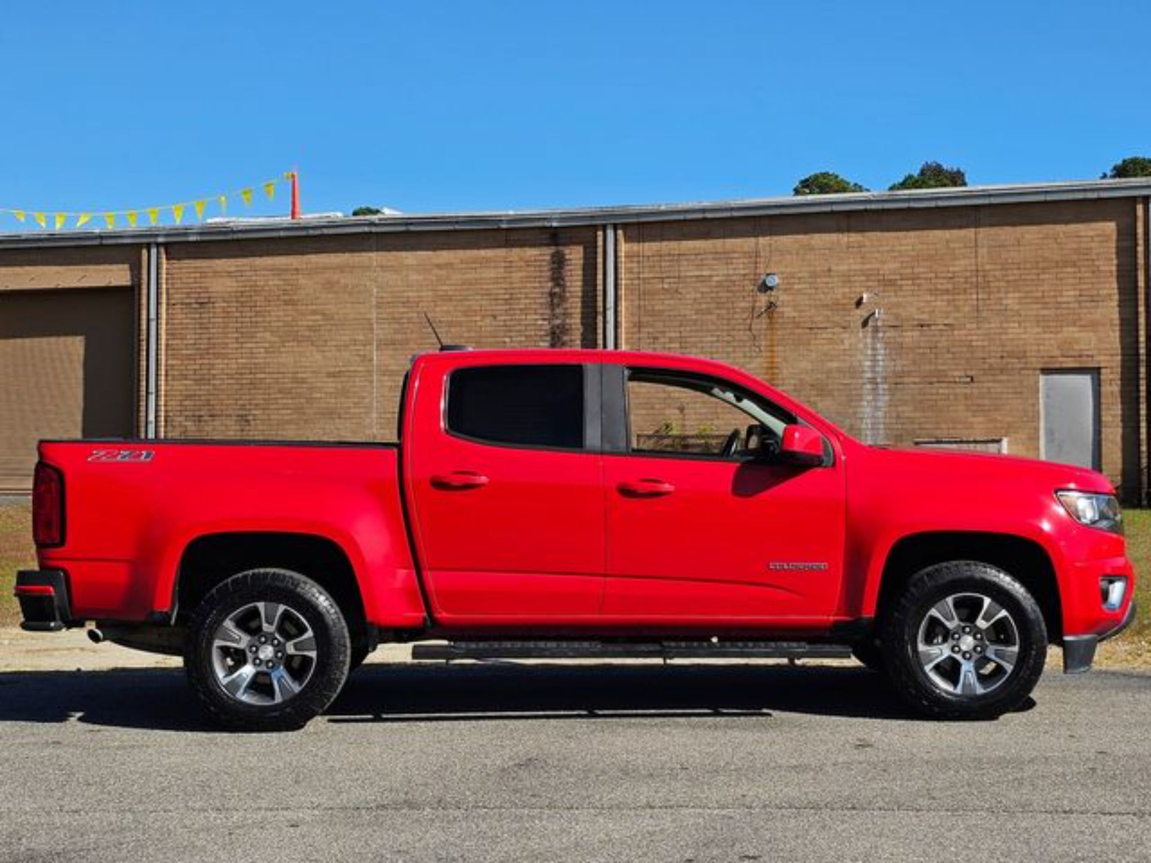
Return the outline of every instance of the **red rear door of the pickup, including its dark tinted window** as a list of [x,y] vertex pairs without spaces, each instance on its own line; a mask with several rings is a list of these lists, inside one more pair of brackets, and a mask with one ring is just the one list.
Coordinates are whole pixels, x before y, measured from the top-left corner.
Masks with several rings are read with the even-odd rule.
[[404,441],[436,619],[581,624],[603,598],[600,379],[579,362],[429,364]]

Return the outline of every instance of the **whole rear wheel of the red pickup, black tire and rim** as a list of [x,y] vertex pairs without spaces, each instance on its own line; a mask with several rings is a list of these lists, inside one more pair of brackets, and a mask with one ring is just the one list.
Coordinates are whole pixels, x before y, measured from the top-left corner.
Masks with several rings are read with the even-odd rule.
[[[257,605],[257,604],[260,605]],[[279,611],[280,609],[283,611]],[[254,609],[254,610],[253,610]],[[276,613],[274,626],[265,625],[267,614]],[[239,618],[235,616],[239,614]],[[254,614],[254,619],[244,617]],[[237,623],[237,620],[239,623]],[[252,620],[252,623],[247,623]],[[223,646],[218,641],[226,621],[230,633],[239,633],[246,647]],[[283,621],[283,623],[281,623]],[[294,628],[288,629],[290,624]],[[311,632],[307,632],[307,631]],[[298,636],[291,643],[308,648],[306,654],[289,655],[288,642],[292,634]],[[300,635],[303,633],[303,635]],[[189,621],[184,646],[184,670],[193,692],[208,716],[224,727],[237,731],[292,731],[300,728],[315,716],[322,713],[340,694],[348,679],[351,658],[351,637],[340,606],[328,593],[311,579],[287,570],[251,570],[234,575],[216,586],[197,605]],[[267,649],[256,641],[283,639],[283,651],[268,656],[265,660],[272,667],[280,663],[281,679],[288,678],[289,663],[295,663],[295,675],[288,678],[299,688],[289,692],[273,680],[266,670],[256,670],[259,659],[247,656]],[[231,634],[229,639],[234,637]],[[281,642],[277,640],[277,644]],[[244,662],[239,662],[243,657]],[[252,679],[238,695],[224,687],[235,670],[243,670]],[[249,673],[250,672],[250,673]],[[238,677],[238,675],[235,675]],[[259,688],[257,687],[259,685]],[[262,694],[261,694],[262,693]],[[270,694],[268,694],[270,693]],[[242,698],[266,702],[250,703]]]

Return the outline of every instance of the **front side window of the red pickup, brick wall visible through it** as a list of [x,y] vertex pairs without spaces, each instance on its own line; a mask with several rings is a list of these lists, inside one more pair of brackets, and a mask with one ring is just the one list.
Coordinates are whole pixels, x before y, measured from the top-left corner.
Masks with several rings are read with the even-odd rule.
[[742,459],[778,448],[795,419],[724,381],[679,372],[627,372],[631,451]]

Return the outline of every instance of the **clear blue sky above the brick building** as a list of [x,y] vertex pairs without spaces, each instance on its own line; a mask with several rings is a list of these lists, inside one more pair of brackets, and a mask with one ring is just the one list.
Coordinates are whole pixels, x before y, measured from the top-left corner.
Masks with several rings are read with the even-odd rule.
[[747,198],[822,169],[882,189],[928,159],[1096,177],[1151,154],[1149,32],[1146,0],[14,2],[0,207],[294,165],[310,212]]

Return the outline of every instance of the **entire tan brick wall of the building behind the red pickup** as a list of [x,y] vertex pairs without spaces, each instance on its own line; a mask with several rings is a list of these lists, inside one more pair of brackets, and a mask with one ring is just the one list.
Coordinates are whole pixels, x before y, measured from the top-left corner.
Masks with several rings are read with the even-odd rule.
[[[1020,455],[1039,452],[1041,371],[1098,368],[1103,468],[1133,495],[1146,459],[1145,206],[626,224],[619,343],[733,362],[864,440],[1004,437]],[[390,440],[409,358],[434,346],[422,312],[449,342],[602,344],[602,250],[597,227],[169,243],[160,432]],[[134,288],[140,411],[145,251],[0,251],[0,292]],[[767,272],[780,280],[770,296],[755,291]]]

